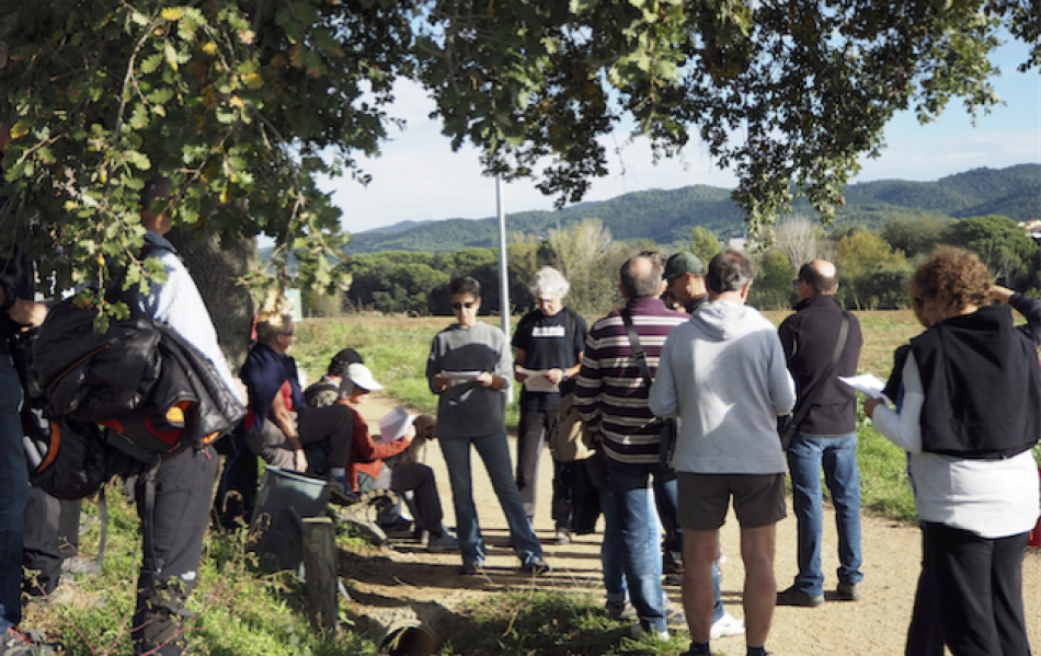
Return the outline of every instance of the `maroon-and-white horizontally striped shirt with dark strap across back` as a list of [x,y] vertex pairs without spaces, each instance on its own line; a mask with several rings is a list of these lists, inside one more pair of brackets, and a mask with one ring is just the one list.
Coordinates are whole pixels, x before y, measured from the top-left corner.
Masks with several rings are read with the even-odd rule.
[[[640,335],[653,378],[665,337],[688,320],[657,298],[637,298],[626,307]],[[657,464],[660,425],[648,406],[648,388],[632,356],[621,315],[614,311],[593,324],[575,385],[575,407],[603,437],[608,458],[627,464]]]

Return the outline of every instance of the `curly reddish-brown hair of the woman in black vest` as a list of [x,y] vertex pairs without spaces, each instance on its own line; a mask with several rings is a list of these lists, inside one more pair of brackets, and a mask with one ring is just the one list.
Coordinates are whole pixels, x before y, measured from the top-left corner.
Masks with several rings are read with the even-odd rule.
[[991,272],[980,256],[954,246],[937,246],[911,279],[913,294],[947,300],[958,310],[985,306],[992,285]]

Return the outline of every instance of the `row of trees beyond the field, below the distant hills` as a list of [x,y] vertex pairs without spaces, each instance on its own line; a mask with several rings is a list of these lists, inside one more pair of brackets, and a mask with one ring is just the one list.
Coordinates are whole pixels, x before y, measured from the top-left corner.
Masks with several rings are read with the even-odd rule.
[[[511,311],[534,307],[528,284],[541,266],[553,266],[571,283],[568,304],[586,315],[620,302],[618,268],[642,250],[690,250],[708,263],[723,244],[711,230],[695,227],[686,243],[660,246],[651,241],[622,242],[598,219],[551,229],[542,239],[515,233],[507,246]],[[799,266],[814,258],[836,263],[840,302],[850,309],[895,309],[910,304],[908,281],[915,266],[938,243],[971,249],[987,263],[997,283],[1037,294],[1041,289],[1038,244],[1011,219],[972,217],[948,222],[937,217],[897,217],[879,231],[862,228],[826,231],[805,217],[791,217],[776,230],[775,245],[753,253],[756,266],[751,302],[762,309],[790,307]],[[312,315],[346,308],[387,313],[450,314],[448,283],[460,275],[484,287],[484,310],[501,313],[499,253],[464,249],[455,253],[385,252],[357,255],[348,263],[353,281],[342,295],[306,295]]]

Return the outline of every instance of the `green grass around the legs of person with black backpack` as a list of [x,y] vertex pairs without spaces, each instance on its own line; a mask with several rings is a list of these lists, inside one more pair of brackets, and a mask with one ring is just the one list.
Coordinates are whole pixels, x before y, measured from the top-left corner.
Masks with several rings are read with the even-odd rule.
[[[84,502],[84,514],[96,514],[93,500]],[[101,592],[100,608],[69,610],[36,607],[26,623],[45,629],[65,646],[68,656],[133,654],[129,638],[134,612],[134,588],[141,559],[138,520],[117,488],[108,494],[108,544],[102,573],[78,582],[84,592]],[[96,548],[99,529],[82,538],[81,549]],[[343,540],[348,537],[344,536]],[[244,549],[245,530],[210,532],[204,544],[199,584],[187,607],[195,613],[188,621],[193,654],[213,656],[341,656],[376,654],[369,636],[352,631],[348,606],[341,603],[341,625],[322,632],[311,625],[304,610],[301,586],[295,576],[265,574]],[[38,614],[34,614],[38,613]]]

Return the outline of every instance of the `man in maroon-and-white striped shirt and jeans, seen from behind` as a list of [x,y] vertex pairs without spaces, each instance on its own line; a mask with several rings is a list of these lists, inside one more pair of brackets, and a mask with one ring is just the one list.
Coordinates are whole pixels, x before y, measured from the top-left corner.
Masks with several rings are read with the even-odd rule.
[[[662,258],[644,252],[622,265],[619,285],[626,299],[625,311],[632,318],[652,377],[665,337],[687,320],[659,299],[664,288],[662,271]],[[676,476],[659,467],[661,424],[654,422],[648,407],[648,387],[618,311],[590,330],[574,395],[583,422],[600,437],[617,515],[617,520],[611,521],[611,514],[605,511],[605,578],[611,577],[606,554],[620,552],[629,595],[640,619],[633,632],[667,637],[668,620],[683,623],[684,618],[682,613],[666,618],[659,518],[653,513],[648,482],[653,476],[662,510],[666,515],[672,513],[674,520]],[[666,526],[676,526],[668,519]],[[611,583],[607,582],[608,610],[613,602]]]

